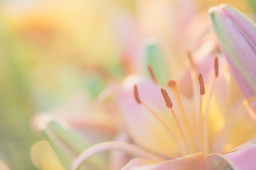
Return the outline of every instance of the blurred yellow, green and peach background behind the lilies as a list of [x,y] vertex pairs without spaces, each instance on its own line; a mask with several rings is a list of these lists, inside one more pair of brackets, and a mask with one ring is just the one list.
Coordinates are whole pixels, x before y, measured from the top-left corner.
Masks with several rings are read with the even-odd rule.
[[1,0],[0,169],[59,168],[33,115],[144,73],[155,38],[174,75],[200,45],[209,7],[224,2],[254,16],[254,0]]

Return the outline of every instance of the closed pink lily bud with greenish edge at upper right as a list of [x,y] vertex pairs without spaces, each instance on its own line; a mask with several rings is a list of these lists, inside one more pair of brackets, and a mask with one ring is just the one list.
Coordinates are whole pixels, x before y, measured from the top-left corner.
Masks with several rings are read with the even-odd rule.
[[209,9],[213,30],[229,69],[246,97],[256,94],[256,24],[243,13],[221,4]]

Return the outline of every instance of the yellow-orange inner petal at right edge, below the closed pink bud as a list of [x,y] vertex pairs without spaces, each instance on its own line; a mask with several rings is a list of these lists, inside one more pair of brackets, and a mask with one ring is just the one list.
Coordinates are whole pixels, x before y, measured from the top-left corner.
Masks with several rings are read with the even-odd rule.
[[216,135],[213,142],[213,152],[229,152],[232,148],[254,137],[256,130],[255,109],[256,96],[244,100],[238,110],[227,120],[225,126]]

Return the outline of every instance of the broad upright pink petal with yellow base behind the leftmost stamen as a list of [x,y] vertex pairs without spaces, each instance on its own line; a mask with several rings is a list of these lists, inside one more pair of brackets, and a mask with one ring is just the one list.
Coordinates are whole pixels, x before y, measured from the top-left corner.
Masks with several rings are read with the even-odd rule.
[[[140,99],[154,110],[173,132],[180,135],[173,116],[165,105],[160,87],[150,79],[139,75],[130,75],[126,78],[119,99],[119,106],[121,106],[129,135],[136,144],[148,150],[169,157],[177,157],[177,153],[180,151],[164,126],[142,104],[135,101],[133,95],[135,84],[137,84]],[[169,95],[173,98],[171,93]],[[173,105],[175,106],[175,103]]]

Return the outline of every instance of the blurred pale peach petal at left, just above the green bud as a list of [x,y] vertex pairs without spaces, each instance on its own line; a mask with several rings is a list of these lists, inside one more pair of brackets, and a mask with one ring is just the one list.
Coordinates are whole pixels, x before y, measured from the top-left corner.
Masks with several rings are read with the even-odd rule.
[[110,115],[102,113],[97,107],[98,105],[95,106],[83,95],[78,95],[63,107],[36,113],[31,119],[31,126],[34,130],[40,131],[51,120],[57,119],[65,121],[85,133],[88,133],[86,129],[91,128],[113,136],[116,133],[115,122]]

